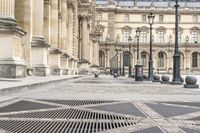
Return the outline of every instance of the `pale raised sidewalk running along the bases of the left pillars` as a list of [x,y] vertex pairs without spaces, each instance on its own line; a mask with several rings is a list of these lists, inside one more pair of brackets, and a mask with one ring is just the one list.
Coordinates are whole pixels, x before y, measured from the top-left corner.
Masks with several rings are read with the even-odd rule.
[[21,78],[21,79],[0,78],[0,91],[31,88],[40,85],[46,85],[53,82],[76,79],[79,77],[82,76],[81,75],[62,75],[62,76],[47,76],[47,77],[28,76],[26,78]]

